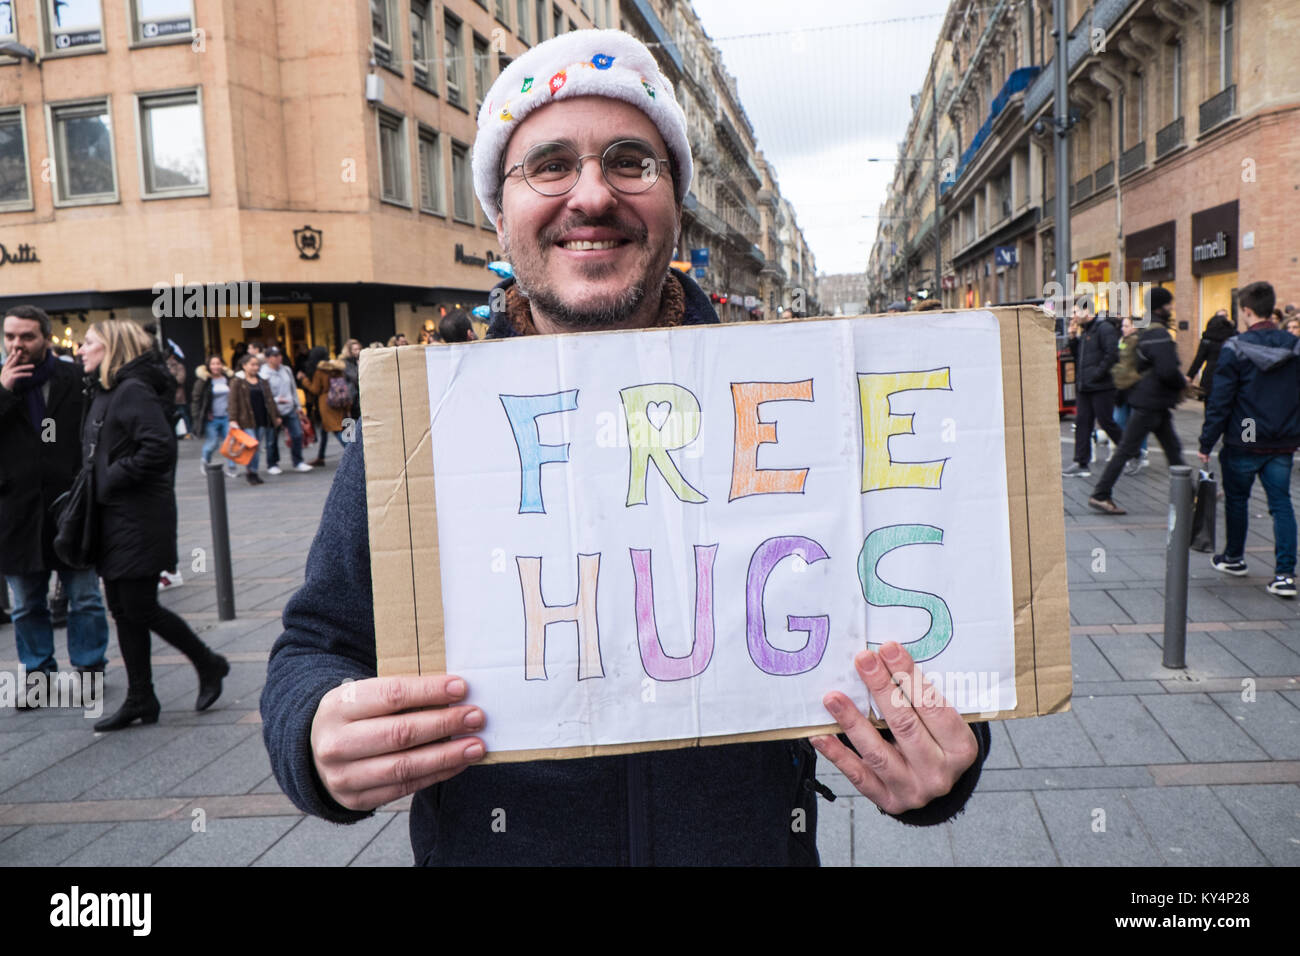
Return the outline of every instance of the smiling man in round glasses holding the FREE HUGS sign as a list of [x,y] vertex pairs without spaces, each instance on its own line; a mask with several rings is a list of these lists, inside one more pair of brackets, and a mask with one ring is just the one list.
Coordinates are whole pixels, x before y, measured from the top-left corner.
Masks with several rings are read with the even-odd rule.
[[[534,47],[498,77],[478,130],[476,193],[515,271],[494,290],[490,337],[718,321],[668,269],[692,157],[685,117],[640,42],[585,30]],[[520,511],[532,505],[525,488]],[[360,437],[326,514],[261,697],[295,805],[355,822],[415,793],[411,838],[425,865],[816,862],[819,784],[803,740],[476,767],[474,735],[493,717],[462,702],[465,680],[374,676]],[[844,735],[811,745],[883,812],[949,819],[975,787],[987,726],[941,697],[900,693],[916,667],[897,643],[854,665],[889,731],[835,691],[823,702]]]

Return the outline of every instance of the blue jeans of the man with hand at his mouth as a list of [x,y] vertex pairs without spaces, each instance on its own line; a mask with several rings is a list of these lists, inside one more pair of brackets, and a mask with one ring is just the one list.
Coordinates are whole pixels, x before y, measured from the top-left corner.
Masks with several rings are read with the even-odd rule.
[[[68,594],[68,657],[73,667],[103,667],[108,650],[108,617],[94,568],[58,571]],[[49,571],[6,575],[13,588],[13,632],[18,659],[27,671],[58,670],[55,628],[49,623]],[[157,581],[153,583],[157,587]]]

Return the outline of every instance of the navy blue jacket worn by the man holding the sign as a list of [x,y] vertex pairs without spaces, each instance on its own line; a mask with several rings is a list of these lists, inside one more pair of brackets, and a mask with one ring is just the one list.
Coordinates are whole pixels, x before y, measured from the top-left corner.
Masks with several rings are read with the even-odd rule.
[[[699,287],[680,281],[686,321],[716,323]],[[508,334],[506,324],[495,315],[494,334]],[[325,792],[311,726],[330,688],[376,674],[364,454],[358,432],[325,502],[307,580],[285,607],[261,695],[280,786],[302,810],[339,823],[370,814]],[[900,819],[940,823],[966,804],[989,748],[988,726],[972,727],[974,766],[949,795]],[[816,865],[815,767],[806,740],[472,766],[415,795],[411,844],[421,865]],[[802,829],[792,826],[798,809]]]

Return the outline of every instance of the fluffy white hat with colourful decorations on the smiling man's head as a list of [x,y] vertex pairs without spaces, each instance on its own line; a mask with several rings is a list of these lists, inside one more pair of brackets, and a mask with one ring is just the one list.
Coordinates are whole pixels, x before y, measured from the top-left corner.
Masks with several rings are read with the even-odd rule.
[[572,30],[537,44],[502,70],[478,111],[474,194],[489,221],[495,222],[500,212],[502,155],[515,127],[538,107],[572,96],[608,96],[649,116],[668,147],[677,202],[685,199],[694,172],[686,114],[654,56],[621,30]]

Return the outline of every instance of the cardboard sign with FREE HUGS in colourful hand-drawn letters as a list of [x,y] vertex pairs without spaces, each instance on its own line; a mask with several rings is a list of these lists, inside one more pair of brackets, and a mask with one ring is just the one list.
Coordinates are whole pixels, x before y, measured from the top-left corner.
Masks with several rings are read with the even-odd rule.
[[1036,310],[367,350],[381,674],[489,760],[828,732],[897,640],[963,714],[1067,706]]

